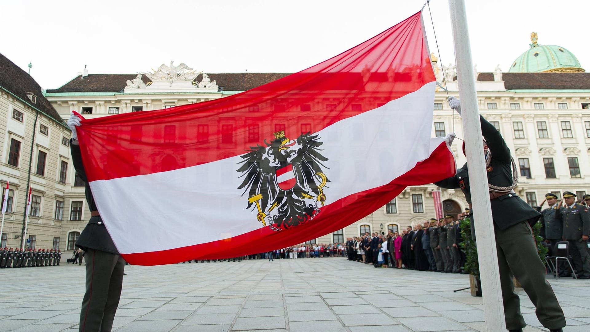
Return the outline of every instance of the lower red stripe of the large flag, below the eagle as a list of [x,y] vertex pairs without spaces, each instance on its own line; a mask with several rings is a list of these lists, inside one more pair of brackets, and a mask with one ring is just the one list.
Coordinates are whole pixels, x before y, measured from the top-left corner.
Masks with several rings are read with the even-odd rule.
[[[122,256],[125,261],[133,265],[160,265],[184,262],[189,259],[231,258],[285,248],[335,232],[362,219],[398,196],[408,185],[439,181],[454,175],[455,171],[453,154],[445,142],[442,142],[427,160],[419,162],[412,170],[391,183],[350,195],[324,206],[312,225],[283,230],[278,233],[282,236],[277,236],[277,232],[269,227],[263,227],[215,242],[155,252],[122,254]],[[350,202],[355,203],[350,204]],[[257,239],[255,247],[251,246],[252,239]]]

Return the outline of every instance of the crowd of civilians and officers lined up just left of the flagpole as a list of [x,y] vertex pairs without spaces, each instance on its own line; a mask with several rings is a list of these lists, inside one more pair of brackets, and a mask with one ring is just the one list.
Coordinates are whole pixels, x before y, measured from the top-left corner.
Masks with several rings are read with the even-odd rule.
[[[469,209],[458,218],[468,216]],[[412,269],[445,273],[463,271],[465,254],[461,249],[460,220],[447,214],[444,218],[407,226],[402,233],[389,230],[366,232],[363,236],[349,237],[346,252],[349,261],[372,264],[375,268]]]

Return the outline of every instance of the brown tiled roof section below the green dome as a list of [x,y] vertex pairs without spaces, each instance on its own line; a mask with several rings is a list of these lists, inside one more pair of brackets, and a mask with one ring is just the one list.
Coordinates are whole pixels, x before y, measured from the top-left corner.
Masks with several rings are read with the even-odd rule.
[[[590,73],[503,73],[506,90],[588,90]],[[493,73],[480,73],[478,80],[494,80]]]

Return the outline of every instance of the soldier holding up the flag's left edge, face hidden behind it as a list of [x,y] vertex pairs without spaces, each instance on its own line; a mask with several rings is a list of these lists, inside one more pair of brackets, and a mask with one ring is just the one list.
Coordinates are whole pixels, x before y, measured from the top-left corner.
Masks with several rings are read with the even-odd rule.
[[73,136],[70,140],[72,162],[78,176],[85,183],[86,201],[91,216],[76,241],[76,246],[86,252],[86,293],[82,300],[79,331],[109,332],[113,328],[114,315],[121,298],[125,261],[104,227],[86,177],[76,132],[81,120],[72,114],[67,125]]

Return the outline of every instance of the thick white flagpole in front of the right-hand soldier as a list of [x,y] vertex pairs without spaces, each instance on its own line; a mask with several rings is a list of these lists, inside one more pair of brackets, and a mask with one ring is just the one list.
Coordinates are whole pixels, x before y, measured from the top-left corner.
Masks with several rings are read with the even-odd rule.
[[487,331],[506,330],[464,0],[449,0]]

